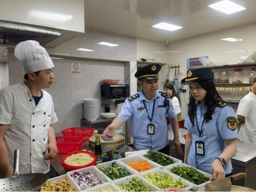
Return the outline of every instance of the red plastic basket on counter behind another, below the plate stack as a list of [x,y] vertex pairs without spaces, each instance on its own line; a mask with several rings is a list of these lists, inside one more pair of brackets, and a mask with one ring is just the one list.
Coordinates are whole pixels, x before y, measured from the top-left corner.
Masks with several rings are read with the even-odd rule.
[[62,130],[61,133],[63,136],[84,137],[84,141],[86,141],[92,137],[94,130],[94,128],[70,127],[68,129]]

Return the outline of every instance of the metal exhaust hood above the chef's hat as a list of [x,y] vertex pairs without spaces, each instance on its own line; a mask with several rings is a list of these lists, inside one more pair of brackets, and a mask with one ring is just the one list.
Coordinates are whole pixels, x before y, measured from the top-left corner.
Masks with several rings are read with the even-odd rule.
[[15,46],[24,40],[36,40],[41,46],[60,37],[58,29],[37,27],[21,23],[10,23],[0,20],[0,46]]

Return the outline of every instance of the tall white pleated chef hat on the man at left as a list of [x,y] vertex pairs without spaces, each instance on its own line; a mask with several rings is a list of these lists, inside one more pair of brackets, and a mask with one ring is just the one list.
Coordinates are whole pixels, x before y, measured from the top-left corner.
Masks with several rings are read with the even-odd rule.
[[54,67],[46,49],[35,40],[20,42],[14,49],[14,55],[22,62],[25,74]]

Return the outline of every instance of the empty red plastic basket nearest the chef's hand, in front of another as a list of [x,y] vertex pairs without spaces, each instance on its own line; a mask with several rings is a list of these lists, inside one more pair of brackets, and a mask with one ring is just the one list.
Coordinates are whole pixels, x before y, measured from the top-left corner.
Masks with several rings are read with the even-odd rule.
[[80,150],[84,137],[56,137],[58,153],[70,153]]

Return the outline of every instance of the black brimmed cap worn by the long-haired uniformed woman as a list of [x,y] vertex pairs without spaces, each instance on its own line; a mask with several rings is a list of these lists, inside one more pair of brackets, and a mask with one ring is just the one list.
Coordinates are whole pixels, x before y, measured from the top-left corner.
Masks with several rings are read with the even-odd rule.
[[187,71],[187,77],[181,80],[181,84],[190,84],[202,80],[214,79],[211,68],[198,68]]

